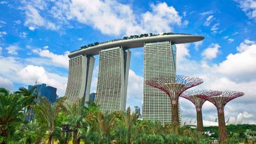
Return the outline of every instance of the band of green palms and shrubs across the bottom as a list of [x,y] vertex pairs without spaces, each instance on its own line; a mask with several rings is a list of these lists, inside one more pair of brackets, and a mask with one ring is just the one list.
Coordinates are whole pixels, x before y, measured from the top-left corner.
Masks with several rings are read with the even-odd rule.
[[[178,132],[173,132],[171,124],[140,121],[130,108],[104,114],[95,103],[89,103],[86,108],[82,100],[78,100],[64,107],[64,99],[50,103],[46,98],[31,95],[27,89],[14,94],[0,89],[0,143],[51,143],[52,140],[64,143],[66,136],[73,143],[208,143],[212,140],[190,127],[180,127]],[[28,106],[35,110],[33,121],[26,121],[21,111]],[[62,132],[62,124],[68,124],[73,132]],[[215,133],[211,137],[218,138],[218,127],[204,129]],[[227,126],[227,131],[226,143],[256,140],[255,125]]]

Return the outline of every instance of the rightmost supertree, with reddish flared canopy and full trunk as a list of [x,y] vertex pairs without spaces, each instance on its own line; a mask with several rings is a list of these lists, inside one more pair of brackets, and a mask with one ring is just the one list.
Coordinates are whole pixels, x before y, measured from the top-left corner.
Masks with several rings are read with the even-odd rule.
[[226,103],[233,100],[234,98],[241,97],[242,95],[244,95],[243,92],[236,92],[231,90],[223,91],[222,94],[213,97],[209,97],[207,95],[197,95],[197,97],[204,98],[205,100],[213,103],[213,105],[215,105],[217,108],[219,143],[225,143],[226,138],[228,138],[228,135],[226,134],[224,107]]

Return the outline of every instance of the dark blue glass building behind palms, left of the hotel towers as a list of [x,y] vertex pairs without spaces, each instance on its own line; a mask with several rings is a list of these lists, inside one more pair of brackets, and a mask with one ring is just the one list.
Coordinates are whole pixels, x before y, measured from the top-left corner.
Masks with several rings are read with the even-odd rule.
[[28,89],[33,89],[33,93],[40,97],[46,97],[51,103],[55,103],[57,100],[57,89],[55,87],[46,86],[46,84],[36,84],[35,86],[28,86]]

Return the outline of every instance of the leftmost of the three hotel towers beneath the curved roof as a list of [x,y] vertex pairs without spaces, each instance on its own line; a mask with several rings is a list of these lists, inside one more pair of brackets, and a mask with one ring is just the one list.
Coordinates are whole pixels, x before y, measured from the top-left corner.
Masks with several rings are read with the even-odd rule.
[[91,55],[78,55],[70,58],[65,92],[66,103],[75,103],[78,98],[83,98],[85,106],[88,106],[94,60]]

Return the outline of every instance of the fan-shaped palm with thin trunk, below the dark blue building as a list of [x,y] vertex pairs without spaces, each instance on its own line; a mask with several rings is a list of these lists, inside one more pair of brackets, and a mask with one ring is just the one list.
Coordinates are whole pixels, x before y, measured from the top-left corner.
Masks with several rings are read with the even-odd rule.
[[56,103],[51,103],[45,97],[39,97],[38,103],[35,106],[32,106],[32,108],[35,109],[36,114],[38,114],[41,119],[46,121],[48,125],[48,144],[51,144],[52,142],[54,133],[54,121],[60,111],[65,109],[63,105],[64,100],[64,98],[59,98]]

